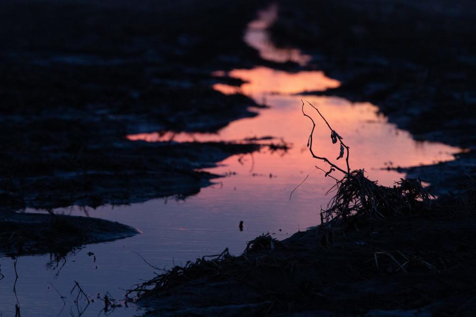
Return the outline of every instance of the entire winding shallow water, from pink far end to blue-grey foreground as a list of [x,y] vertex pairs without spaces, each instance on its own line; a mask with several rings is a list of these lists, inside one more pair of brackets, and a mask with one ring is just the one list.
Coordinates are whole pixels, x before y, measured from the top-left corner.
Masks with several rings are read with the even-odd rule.
[[[270,19],[265,13],[261,13],[260,17]],[[259,36],[259,30],[266,32],[269,26],[269,21],[265,21],[268,24],[261,22],[252,21],[249,25],[255,36]],[[249,40],[247,42],[249,44]],[[272,45],[253,47],[260,50],[263,58],[277,60],[269,57]],[[298,50],[293,52],[298,53],[290,56],[307,56]],[[307,61],[302,59],[299,63]],[[73,316],[78,316],[73,303],[76,293],[70,294],[75,280],[89,296],[109,291],[113,297],[123,298],[123,289],[153,276],[154,270],[136,252],[153,265],[171,267],[174,263],[183,264],[196,257],[220,253],[226,247],[231,253],[239,254],[247,241],[261,233],[270,232],[276,238],[284,239],[297,230],[318,224],[319,210],[328,202],[324,194],[334,184],[331,178],[325,178],[320,170],[313,172],[290,200],[291,191],[309,172],[315,170],[314,165],[328,169],[320,161],[312,159],[306,148],[311,122],[302,115],[301,98],[317,106],[332,127],[344,137],[351,147],[351,167],[365,168],[369,177],[378,179],[381,184],[392,185],[405,176],[394,170],[382,169],[389,165],[412,166],[451,160],[451,154],[459,151],[443,144],[416,142],[408,132],[389,124],[385,117],[377,113],[378,108],[369,103],[352,104],[334,97],[296,95],[306,90],[325,90],[339,85],[338,81],[319,71],[291,74],[256,67],[233,70],[229,75],[247,81],[239,89],[240,92],[270,107],[260,110],[254,118],[231,123],[218,134],[178,134],[174,140],[239,141],[248,137],[273,136],[277,139],[261,142],[276,143],[283,138],[292,144],[292,148],[286,153],[262,150],[253,155],[230,157],[219,167],[209,169],[225,177],[216,179],[215,185],[184,201],[156,199],[131,206],[103,206],[89,210],[91,216],[119,221],[143,233],[114,242],[88,245],[61,259],[58,267],[48,255],[19,258],[16,265],[19,277],[15,288],[22,316],[70,316],[70,311]],[[237,88],[222,84],[216,84],[214,89],[225,94],[237,92]],[[314,152],[334,159],[339,149],[332,145],[329,130],[315,110],[307,105],[304,110],[317,123]],[[128,136],[130,140],[150,142],[170,137],[170,134],[154,132]],[[56,212],[84,215],[84,211],[76,207]],[[238,229],[239,221],[244,222],[243,231]],[[96,262],[93,256],[88,255],[89,252],[95,254]],[[5,276],[0,280],[0,316],[14,316],[17,299],[12,292],[15,281],[13,261],[1,258],[0,265]],[[49,282],[67,297],[63,309],[60,295]],[[86,304],[83,300],[80,303],[82,307]],[[82,316],[98,316],[102,307],[100,301],[91,303]],[[137,314],[135,307],[130,307],[118,308],[112,315],[134,314]]]

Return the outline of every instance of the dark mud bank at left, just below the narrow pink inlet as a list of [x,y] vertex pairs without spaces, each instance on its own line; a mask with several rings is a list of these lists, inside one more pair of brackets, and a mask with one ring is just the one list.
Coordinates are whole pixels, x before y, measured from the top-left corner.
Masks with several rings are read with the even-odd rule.
[[192,195],[219,177],[197,169],[258,149],[254,144],[120,140],[44,151],[39,160],[34,151],[19,158],[3,152],[8,159],[2,165],[1,203],[18,210],[52,209]]

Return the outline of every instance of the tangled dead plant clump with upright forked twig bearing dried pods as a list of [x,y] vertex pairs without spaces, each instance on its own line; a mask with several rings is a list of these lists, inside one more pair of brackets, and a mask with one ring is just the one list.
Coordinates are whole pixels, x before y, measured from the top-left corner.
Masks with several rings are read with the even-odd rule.
[[[343,137],[334,130],[325,119],[319,109],[307,102],[331,131],[331,141],[333,144],[339,144],[339,156],[336,160],[345,156],[346,166],[339,167],[332,160],[320,157],[314,154],[312,149],[313,133],[316,123],[312,116],[304,111],[304,102],[302,102],[302,114],[308,117],[312,122],[311,133],[309,134],[307,147],[312,157],[320,159],[330,165],[328,171],[316,166],[325,172],[326,177],[332,177],[336,184],[328,191],[335,191],[325,209],[321,210],[321,224],[327,227],[335,224],[347,224],[355,220],[379,220],[389,216],[402,213],[410,214],[413,211],[429,210],[431,205],[431,195],[421,184],[420,179],[400,179],[392,187],[379,185],[377,181],[372,181],[365,176],[364,169],[352,170],[349,165],[349,146],[347,146]],[[333,172],[340,172],[342,177],[337,178]]]

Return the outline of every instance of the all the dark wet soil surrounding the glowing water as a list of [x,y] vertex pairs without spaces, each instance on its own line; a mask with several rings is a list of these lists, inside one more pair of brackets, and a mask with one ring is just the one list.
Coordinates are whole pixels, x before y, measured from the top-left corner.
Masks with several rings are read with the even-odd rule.
[[[372,102],[416,138],[474,148],[471,1],[277,2],[275,43],[302,48],[314,58],[308,68],[323,69],[343,83],[321,94]],[[259,105],[251,99],[212,90],[217,81],[231,81],[212,77],[214,70],[254,64],[303,69],[262,61],[243,45],[242,32],[262,1],[111,3],[1,2],[0,203],[6,209],[196,193],[213,177],[197,168],[257,147],[147,144],[125,135],[213,132],[254,115],[249,107]],[[461,172],[475,173],[473,153],[461,155],[469,162]],[[461,168],[457,162],[439,167]],[[466,186],[461,172],[440,183]],[[435,174],[446,175],[440,169]],[[5,212],[5,232],[21,233],[1,236],[12,253],[47,252],[64,244],[68,249],[133,230],[79,217],[68,225],[63,220],[72,218],[50,215],[27,215],[20,222],[23,215]],[[211,274],[156,289],[142,303],[155,311],[151,314],[174,316],[398,316],[403,311],[470,316],[476,310],[475,220],[474,210],[447,206],[361,224],[332,249],[319,245],[318,229],[298,232],[273,242],[273,250],[270,244],[227,258]],[[43,225],[32,224],[38,222]],[[84,233],[84,227],[91,231]],[[8,245],[10,239],[17,240]]]

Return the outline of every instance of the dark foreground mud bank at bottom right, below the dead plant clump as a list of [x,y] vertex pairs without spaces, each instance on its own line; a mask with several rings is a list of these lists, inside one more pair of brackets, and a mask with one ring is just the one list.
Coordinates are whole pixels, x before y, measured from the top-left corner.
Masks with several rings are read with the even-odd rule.
[[174,268],[139,303],[150,316],[473,316],[475,225],[473,206],[259,237]]

